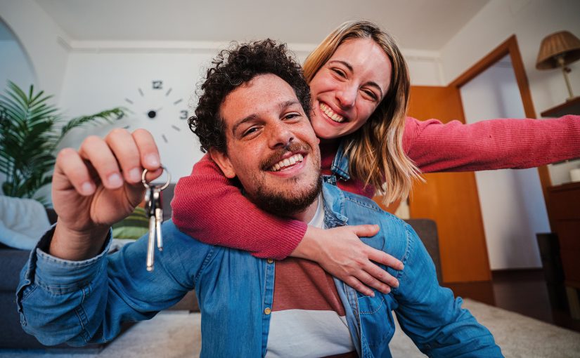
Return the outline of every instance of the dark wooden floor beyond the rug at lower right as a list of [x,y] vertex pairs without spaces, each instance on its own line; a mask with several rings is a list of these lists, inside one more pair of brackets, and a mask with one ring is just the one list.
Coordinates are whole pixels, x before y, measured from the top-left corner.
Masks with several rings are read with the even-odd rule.
[[444,284],[456,296],[472,298],[527,317],[580,332],[580,319],[567,312],[564,293],[548,287],[543,271],[492,272],[492,281]]

